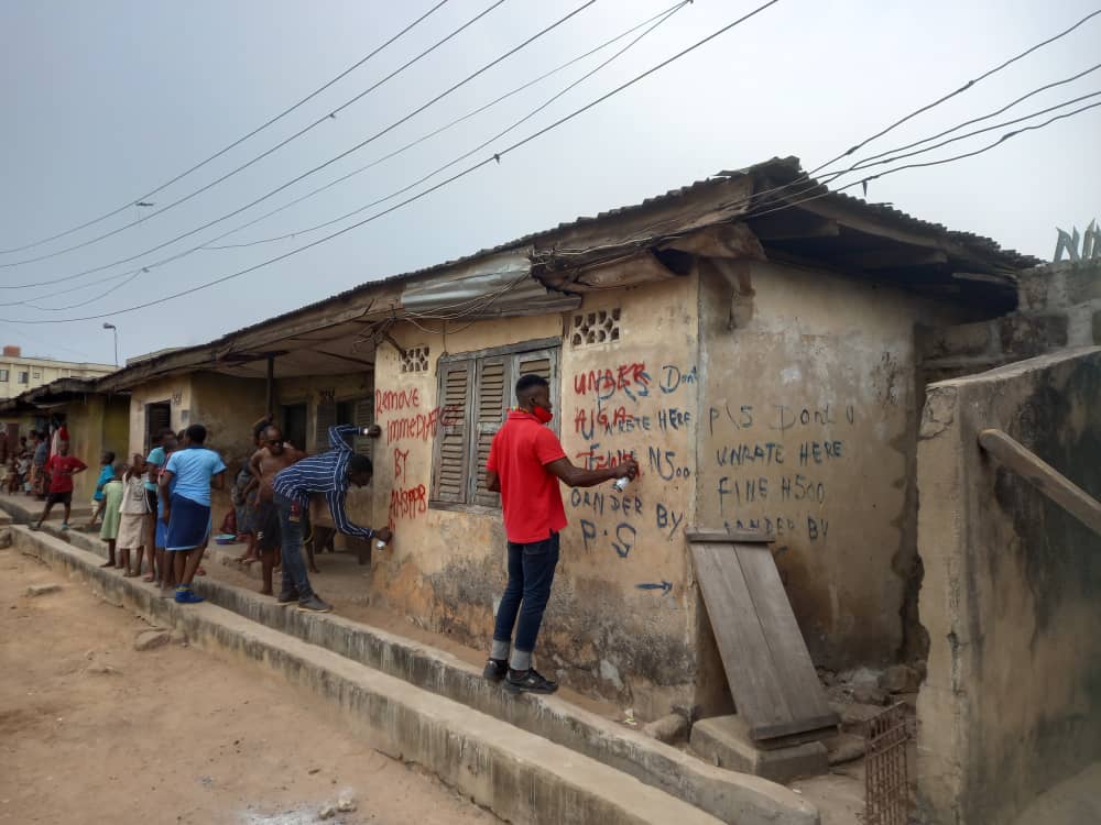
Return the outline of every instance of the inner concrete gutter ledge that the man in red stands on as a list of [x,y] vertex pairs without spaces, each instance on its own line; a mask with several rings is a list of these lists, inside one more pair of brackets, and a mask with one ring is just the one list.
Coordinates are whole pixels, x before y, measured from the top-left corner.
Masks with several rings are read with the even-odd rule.
[[[45,531],[53,532],[52,528]],[[36,538],[43,534],[29,536]],[[70,531],[58,532],[57,537],[64,537],[59,541],[62,547],[69,541],[102,558],[102,543],[90,535]],[[142,593],[152,593],[135,580],[123,580],[110,572],[105,575],[111,581],[132,584]],[[511,696],[488,684],[479,669],[445,651],[338,615],[279,607],[271,597],[209,579],[196,580],[195,590],[210,603],[240,617],[510,723],[622,771],[723,822],[739,825],[819,822],[814,806],[783,785],[716,768],[556,696]]]

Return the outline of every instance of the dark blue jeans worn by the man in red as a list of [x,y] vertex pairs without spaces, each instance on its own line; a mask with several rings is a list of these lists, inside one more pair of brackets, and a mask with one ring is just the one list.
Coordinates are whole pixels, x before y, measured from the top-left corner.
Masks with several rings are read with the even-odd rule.
[[509,584],[497,608],[495,641],[512,641],[515,625],[516,641],[513,647],[525,653],[535,650],[535,638],[539,635],[543,613],[550,598],[557,564],[558,534],[532,544],[509,542]]

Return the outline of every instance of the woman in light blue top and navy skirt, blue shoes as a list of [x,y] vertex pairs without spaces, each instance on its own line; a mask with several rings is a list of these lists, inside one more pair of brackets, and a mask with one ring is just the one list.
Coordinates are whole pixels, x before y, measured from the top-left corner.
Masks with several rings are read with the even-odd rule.
[[218,453],[203,446],[205,441],[206,427],[188,427],[181,449],[168,457],[159,482],[164,505],[161,519],[168,526],[165,564],[172,560],[176,601],[182,604],[203,601],[192,592],[192,580],[210,534],[210,491],[226,486],[226,464]]

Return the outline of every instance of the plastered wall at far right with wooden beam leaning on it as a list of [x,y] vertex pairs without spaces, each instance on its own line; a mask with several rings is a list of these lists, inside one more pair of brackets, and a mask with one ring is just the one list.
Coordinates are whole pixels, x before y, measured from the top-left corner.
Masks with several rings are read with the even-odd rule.
[[1101,537],[985,455],[1001,429],[1101,497],[1101,349],[931,385],[918,449],[926,821],[1012,822],[1101,759]]

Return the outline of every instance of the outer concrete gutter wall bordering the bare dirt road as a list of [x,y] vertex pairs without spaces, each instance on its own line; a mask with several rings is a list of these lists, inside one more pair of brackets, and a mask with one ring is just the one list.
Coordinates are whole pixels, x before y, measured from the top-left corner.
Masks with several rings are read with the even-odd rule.
[[[370,729],[383,752],[416,762],[497,815],[522,823],[713,825],[719,821],[608,766],[411,688],[384,673],[287,638],[215,605],[181,606],[100,570],[98,558],[15,529],[15,546],[64,569],[107,601],[184,630],[194,642],[262,663]],[[757,820],[764,822],[763,820]],[[771,817],[771,822],[796,822]],[[803,822],[805,820],[798,820]],[[749,822],[737,820],[737,822]]]

